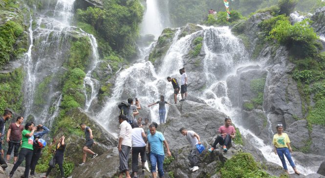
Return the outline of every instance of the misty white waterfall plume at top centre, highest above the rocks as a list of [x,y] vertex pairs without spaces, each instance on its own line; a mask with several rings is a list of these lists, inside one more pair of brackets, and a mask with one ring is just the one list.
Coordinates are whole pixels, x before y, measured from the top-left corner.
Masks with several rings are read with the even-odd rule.
[[151,34],[157,40],[166,26],[163,25],[162,15],[159,12],[158,0],[146,0],[147,8],[141,23],[141,35]]

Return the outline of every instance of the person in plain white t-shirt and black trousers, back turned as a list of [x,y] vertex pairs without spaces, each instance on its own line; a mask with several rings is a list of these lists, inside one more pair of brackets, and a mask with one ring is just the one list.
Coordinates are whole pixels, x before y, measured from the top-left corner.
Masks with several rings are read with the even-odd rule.
[[138,173],[138,156],[140,153],[142,170],[145,170],[146,163],[146,142],[147,136],[143,128],[137,125],[132,129],[132,173],[134,178],[137,178]]

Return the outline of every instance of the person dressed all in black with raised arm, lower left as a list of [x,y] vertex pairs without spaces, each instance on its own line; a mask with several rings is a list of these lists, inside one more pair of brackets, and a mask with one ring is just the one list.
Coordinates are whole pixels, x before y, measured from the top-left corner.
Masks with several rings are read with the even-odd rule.
[[[59,165],[60,173],[61,173],[62,178],[65,177],[65,172],[63,170],[63,157],[65,155],[65,147],[66,147],[65,136],[62,136],[59,139],[59,142],[55,147],[55,154],[54,154],[55,164]],[[47,178],[47,176],[50,174],[51,170],[52,170],[52,167],[49,166],[47,171],[46,171],[46,174],[45,174],[45,176],[43,176],[43,178]]]

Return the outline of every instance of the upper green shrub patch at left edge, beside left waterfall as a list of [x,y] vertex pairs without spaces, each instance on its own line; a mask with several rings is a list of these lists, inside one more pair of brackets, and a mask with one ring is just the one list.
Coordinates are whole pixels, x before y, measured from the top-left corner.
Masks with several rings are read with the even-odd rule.
[[22,25],[12,20],[0,25],[0,66],[25,51],[15,46],[16,40],[22,35],[22,32]]

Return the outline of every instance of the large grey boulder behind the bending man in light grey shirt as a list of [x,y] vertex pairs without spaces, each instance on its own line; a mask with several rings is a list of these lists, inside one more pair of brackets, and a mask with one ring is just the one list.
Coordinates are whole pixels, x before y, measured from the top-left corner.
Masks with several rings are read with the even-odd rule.
[[224,113],[207,104],[185,100],[170,107],[167,123],[159,125],[158,130],[163,133],[172,150],[180,149],[188,144],[179,132],[181,127],[195,131],[201,140],[206,140],[217,135],[217,129],[223,125],[225,117]]

